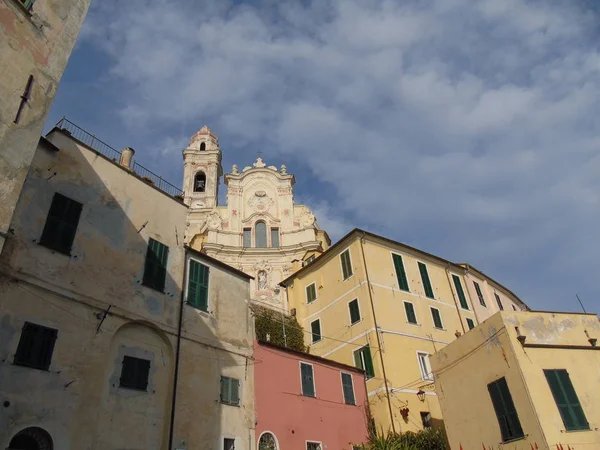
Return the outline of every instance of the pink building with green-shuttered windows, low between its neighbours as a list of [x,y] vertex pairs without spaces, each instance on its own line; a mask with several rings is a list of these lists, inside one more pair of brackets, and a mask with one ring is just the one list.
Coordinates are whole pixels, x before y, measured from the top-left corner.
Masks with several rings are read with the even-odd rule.
[[254,342],[258,450],[353,450],[367,440],[359,369]]

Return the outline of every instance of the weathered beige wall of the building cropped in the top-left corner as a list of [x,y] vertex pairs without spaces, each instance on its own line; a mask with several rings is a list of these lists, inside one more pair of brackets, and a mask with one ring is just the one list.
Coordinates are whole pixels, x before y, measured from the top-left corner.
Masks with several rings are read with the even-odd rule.
[[0,2],[0,251],[89,4]]

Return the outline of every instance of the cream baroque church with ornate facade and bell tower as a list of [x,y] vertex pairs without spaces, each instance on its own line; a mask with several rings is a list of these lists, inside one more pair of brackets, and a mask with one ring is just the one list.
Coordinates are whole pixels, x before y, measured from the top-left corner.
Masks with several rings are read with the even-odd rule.
[[287,312],[279,282],[327,250],[329,236],[307,206],[294,203],[294,175],[260,157],[225,175],[227,205],[219,206],[221,156],[207,126],[183,151],[186,244],[252,275],[252,300]]

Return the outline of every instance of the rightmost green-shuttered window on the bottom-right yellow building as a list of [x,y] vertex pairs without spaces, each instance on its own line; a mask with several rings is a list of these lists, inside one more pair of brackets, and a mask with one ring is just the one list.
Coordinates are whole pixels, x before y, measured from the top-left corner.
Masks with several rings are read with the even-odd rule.
[[544,370],[552,396],[567,431],[589,430],[579,398],[565,369]]

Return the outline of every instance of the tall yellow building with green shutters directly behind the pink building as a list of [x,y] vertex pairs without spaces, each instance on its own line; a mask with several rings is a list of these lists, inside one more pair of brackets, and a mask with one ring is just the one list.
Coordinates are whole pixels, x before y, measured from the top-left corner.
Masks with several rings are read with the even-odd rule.
[[[365,369],[384,430],[441,425],[429,355],[493,314],[494,292],[507,309],[526,309],[470,266],[359,229],[313,256],[281,283],[291,313],[311,353]],[[486,306],[474,298],[473,281]]]

